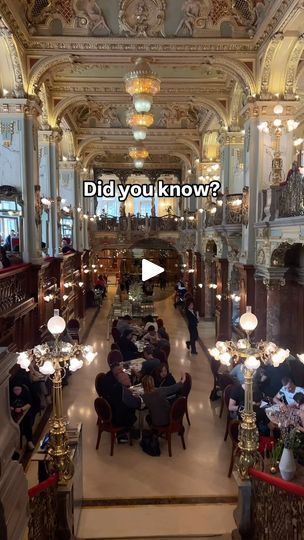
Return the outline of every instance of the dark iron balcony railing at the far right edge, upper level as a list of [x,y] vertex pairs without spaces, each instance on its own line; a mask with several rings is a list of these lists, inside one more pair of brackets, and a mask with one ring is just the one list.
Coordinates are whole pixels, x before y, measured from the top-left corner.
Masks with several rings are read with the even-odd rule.
[[280,186],[271,186],[260,193],[260,220],[304,216],[304,176],[297,170],[289,173]]

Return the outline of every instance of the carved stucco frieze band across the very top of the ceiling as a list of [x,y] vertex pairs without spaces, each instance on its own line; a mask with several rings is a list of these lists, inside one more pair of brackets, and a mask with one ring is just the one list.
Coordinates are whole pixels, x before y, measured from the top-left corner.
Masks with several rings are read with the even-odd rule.
[[[232,37],[254,33],[269,0],[27,0],[31,33]],[[24,2],[20,0],[20,7]]]

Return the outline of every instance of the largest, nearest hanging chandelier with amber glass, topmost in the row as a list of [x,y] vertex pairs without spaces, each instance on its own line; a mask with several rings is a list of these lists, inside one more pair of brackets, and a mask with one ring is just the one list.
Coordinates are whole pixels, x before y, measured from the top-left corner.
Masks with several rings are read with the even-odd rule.
[[133,97],[138,113],[148,113],[153,97],[160,91],[160,79],[153,73],[147,60],[138,58],[132,71],[125,75],[126,92]]

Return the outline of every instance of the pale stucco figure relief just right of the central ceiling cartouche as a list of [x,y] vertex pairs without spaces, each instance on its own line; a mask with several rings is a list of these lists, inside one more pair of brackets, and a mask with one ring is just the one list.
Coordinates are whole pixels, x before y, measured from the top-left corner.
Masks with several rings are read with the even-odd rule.
[[193,36],[195,28],[206,28],[211,8],[211,0],[185,0],[182,6],[183,16],[175,35],[186,30],[189,36]]

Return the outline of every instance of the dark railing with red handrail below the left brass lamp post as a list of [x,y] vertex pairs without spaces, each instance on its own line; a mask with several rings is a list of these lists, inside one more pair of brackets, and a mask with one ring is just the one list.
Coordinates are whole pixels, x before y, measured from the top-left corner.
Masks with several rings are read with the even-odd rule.
[[31,488],[29,496],[28,540],[56,540],[58,475]]

